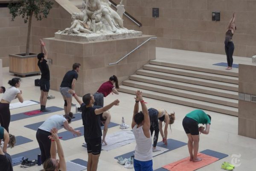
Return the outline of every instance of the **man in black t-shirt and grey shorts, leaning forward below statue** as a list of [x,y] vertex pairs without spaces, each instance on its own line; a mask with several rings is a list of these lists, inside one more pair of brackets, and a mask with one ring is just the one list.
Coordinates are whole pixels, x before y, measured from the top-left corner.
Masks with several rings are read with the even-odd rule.
[[80,63],[73,64],[73,70],[67,71],[64,75],[63,80],[60,86],[60,92],[64,99],[64,111],[65,114],[69,114],[71,110],[71,103],[72,103],[72,95],[68,93],[70,89],[75,89],[75,83],[78,78],[78,73],[80,71]]

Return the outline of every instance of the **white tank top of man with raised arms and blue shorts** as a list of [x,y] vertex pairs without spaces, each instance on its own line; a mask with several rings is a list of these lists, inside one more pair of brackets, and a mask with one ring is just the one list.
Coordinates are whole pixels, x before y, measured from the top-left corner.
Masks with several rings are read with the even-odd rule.
[[142,162],[152,160],[152,137],[147,138],[143,132],[143,126],[132,129],[136,140],[134,159]]

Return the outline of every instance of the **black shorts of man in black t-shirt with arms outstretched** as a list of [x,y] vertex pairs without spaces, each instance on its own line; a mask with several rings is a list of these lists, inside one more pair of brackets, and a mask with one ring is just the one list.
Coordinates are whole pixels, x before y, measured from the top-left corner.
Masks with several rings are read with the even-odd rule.
[[84,138],[86,145],[87,145],[87,153],[92,153],[93,155],[98,155],[101,152],[102,147],[102,139],[94,138],[94,139],[87,139]]

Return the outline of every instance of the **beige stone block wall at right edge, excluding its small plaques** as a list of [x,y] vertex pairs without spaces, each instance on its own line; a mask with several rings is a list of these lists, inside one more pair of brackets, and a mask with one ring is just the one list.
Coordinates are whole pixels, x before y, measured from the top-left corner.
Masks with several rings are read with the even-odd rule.
[[[256,96],[254,73],[256,66],[239,64],[239,93]],[[256,103],[246,100],[239,100],[238,134],[256,139]]]

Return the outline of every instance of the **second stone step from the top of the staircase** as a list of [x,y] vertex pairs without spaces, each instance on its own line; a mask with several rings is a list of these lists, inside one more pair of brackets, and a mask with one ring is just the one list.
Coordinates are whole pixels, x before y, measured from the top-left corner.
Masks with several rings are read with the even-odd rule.
[[143,66],[143,69],[165,72],[169,74],[183,75],[188,77],[207,79],[207,80],[220,81],[225,83],[238,84],[238,77],[231,77],[227,75],[212,74],[207,72],[192,71],[192,70],[187,70],[182,68],[172,68],[168,66],[159,66],[159,65],[152,65],[152,64]]

